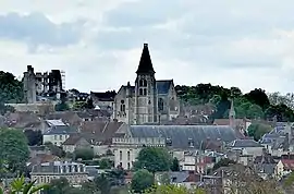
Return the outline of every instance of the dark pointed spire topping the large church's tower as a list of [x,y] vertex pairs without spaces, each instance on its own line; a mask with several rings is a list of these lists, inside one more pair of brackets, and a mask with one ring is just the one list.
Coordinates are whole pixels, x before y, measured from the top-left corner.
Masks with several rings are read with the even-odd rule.
[[144,44],[138,70],[136,71],[137,74],[155,74],[152,61],[150,58],[148,44]]

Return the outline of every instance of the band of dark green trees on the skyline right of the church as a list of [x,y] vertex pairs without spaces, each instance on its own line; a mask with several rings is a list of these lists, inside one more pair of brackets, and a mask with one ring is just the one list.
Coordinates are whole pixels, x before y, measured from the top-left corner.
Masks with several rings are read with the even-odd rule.
[[294,94],[267,95],[261,88],[243,94],[238,87],[225,88],[211,84],[177,85],[175,90],[185,105],[213,105],[216,111],[210,116],[212,120],[228,118],[230,100],[233,99],[237,119],[272,120],[275,117],[277,121],[294,121]]

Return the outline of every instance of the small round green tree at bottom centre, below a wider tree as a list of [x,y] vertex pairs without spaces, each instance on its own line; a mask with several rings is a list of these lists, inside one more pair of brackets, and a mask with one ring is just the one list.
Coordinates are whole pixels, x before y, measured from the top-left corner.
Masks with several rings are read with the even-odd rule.
[[142,193],[154,185],[154,174],[146,169],[135,172],[132,179],[131,189],[135,193]]

